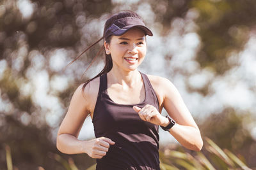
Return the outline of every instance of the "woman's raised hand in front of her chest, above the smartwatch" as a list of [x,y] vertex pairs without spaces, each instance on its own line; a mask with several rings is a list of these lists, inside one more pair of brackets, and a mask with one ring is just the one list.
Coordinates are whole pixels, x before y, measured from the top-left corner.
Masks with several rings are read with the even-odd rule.
[[139,114],[142,120],[150,122],[151,124],[165,126],[169,122],[168,118],[163,117],[161,113],[159,113],[159,111],[150,104],[147,104],[143,108],[133,106],[133,110]]

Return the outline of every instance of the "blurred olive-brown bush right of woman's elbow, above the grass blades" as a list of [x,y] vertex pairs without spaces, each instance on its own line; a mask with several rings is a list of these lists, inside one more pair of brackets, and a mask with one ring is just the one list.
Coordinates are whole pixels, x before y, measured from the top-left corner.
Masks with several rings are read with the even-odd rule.
[[202,136],[208,136],[216,141],[221,148],[244,155],[248,164],[253,164],[256,150],[250,129],[253,127],[255,117],[250,112],[239,112],[227,108],[221,113],[215,113],[201,122]]

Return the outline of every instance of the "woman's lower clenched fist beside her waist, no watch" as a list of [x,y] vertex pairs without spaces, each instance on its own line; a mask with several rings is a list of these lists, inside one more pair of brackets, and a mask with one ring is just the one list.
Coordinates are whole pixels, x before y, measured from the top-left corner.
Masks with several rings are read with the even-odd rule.
[[100,137],[86,141],[86,153],[95,159],[102,159],[108,152],[109,146],[115,145],[115,142],[109,138]]

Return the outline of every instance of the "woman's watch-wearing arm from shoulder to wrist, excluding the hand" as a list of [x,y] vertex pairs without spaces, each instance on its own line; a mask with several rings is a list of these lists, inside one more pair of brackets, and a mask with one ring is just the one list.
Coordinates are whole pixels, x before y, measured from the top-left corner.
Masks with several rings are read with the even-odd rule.
[[173,83],[165,78],[162,78],[162,81],[165,92],[163,106],[168,115],[176,121],[170,129],[170,134],[186,148],[200,151],[203,140],[195,120]]

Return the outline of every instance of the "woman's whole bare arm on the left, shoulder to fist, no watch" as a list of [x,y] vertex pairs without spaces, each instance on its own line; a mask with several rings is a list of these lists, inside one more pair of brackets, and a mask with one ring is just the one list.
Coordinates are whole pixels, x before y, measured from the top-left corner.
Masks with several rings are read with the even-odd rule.
[[108,152],[109,145],[115,144],[111,139],[104,137],[88,141],[77,139],[83,122],[91,108],[95,106],[95,99],[97,99],[99,84],[93,86],[90,83],[84,89],[84,93],[82,92],[83,85],[80,85],[74,92],[68,112],[58,131],[57,148],[63,153],[87,153],[90,157],[100,159]]

